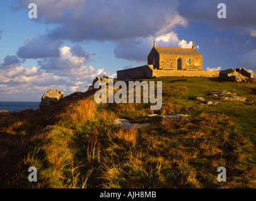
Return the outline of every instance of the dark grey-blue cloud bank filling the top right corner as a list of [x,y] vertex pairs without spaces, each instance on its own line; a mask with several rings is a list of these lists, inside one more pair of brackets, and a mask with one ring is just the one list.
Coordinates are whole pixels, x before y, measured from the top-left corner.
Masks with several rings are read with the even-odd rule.
[[[219,3],[226,4],[226,19],[217,18]],[[247,0],[182,0],[178,5],[178,12],[187,21],[206,21],[215,28],[227,30],[230,28],[255,27],[256,21],[256,1]]]

